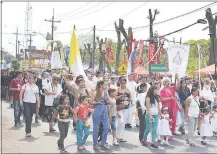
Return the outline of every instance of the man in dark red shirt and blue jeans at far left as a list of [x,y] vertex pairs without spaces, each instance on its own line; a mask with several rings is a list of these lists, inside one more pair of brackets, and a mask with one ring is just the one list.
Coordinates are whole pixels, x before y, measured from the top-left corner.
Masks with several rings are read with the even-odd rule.
[[16,71],[16,78],[13,79],[10,83],[10,90],[12,91],[13,96],[13,104],[14,104],[14,122],[15,127],[18,126],[18,124],[21,124],[20,122],[20,116],[22,114],[23,108],[20,105],[20,90],[23,86],[23,80],[22,80],[22,72]]

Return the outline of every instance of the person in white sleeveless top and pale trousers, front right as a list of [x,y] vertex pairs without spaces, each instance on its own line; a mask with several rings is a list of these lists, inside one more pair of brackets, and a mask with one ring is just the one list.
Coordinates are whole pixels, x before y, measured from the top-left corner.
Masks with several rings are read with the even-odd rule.
[[198,118],[200,115],[199,89],[193,87],[191,89],[191,96],[189,96],[185,103],[185,120],[188,122],[187,143],[190,146],[195,146],[194,134],[197,129]]

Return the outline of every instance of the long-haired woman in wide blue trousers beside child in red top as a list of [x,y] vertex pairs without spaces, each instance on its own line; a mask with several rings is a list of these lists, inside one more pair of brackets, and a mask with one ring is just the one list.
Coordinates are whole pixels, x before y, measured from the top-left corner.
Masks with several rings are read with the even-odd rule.
[[[93,112],[93,148],[96,150],[110,149],[106,144],[107,135],[109,132],[109,117],[108,117],[108,93],[104,90],[104,82],[98,81],[96,85],[96,92],[93,93],[91,102],[94,104]],[[103,125],[102,141],[97,145],[98,128],[100,123]]]

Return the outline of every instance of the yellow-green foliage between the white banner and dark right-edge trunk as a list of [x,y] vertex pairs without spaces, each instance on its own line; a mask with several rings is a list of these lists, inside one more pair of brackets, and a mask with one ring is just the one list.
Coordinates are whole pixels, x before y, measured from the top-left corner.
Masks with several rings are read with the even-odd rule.
[[205,65],[208,65],[209,61],[209,40],[189,40],[187,43],[190,43],[190,53],[188,57],[188,66],[187,66],[187,73],[192,74],[194,71],[198,70],[199,68],[199,56],[198,56],[198,50],[197,50],[197,44],[200,44],[202,46],[201,52],[202,52],[202,58],[200,61],[200,68],[204,68]]

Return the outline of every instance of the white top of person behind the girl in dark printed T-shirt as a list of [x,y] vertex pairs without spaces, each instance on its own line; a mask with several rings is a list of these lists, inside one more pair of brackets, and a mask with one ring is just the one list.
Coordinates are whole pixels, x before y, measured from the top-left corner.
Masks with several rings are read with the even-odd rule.
[[[47,92],[57,93],[57,95],[63,91],[60,84],[58,84],[57,86],[53,86],[52,83],[48,84],[45,89],[47,90]],[[45,95],[45,106],[53,106],[54,98],[56,98],[57,95]]]

